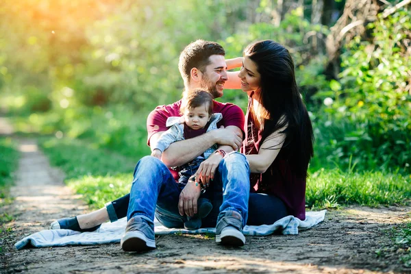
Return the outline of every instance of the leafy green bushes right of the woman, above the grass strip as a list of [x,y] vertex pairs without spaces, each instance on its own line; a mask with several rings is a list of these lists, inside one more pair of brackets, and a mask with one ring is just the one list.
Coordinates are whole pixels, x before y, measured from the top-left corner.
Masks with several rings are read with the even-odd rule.
[[360,170],[411,172],[410,25],[409,14],[397,12],[369,25],[372,40],[356,37],[345,46],[340,82],[316,95],[330,104],[313,119],[313,166],[327,159],[346,169],[352,157]]

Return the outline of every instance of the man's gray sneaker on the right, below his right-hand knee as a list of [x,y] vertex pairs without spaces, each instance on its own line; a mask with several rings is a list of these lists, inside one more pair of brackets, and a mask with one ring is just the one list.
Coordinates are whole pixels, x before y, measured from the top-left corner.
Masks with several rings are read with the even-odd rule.
[[241,247],[245,245],[242,234],[242,216],[234,210],[228,210],[216,226],[216,242],[221,245]]

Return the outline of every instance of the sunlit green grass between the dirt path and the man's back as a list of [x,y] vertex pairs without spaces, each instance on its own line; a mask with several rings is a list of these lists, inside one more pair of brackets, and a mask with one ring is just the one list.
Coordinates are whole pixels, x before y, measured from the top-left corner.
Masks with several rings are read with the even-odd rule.
[[129,192],[138,158],[97,149],[71,139],[41,138],[50,163],[66,173],[66,184],[83,195],[91,208],[101,208]]

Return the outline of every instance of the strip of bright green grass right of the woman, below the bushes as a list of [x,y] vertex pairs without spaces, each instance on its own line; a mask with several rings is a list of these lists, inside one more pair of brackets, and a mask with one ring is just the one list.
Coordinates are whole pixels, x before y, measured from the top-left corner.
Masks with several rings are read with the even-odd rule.
[[309,208],[403,204],[411,197],[410,183],[398,173],[321,169],[308,178],[306,203]]

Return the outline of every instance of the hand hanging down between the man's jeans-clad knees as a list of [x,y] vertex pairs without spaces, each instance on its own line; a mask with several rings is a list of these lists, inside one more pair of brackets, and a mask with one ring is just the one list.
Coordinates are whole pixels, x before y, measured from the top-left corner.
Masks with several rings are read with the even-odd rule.
[[188,181],[179,196],[178,212],[184,216],[194,216],[197,213],[197,200],[201,194],[201,187],[195,186],[195,182]]

